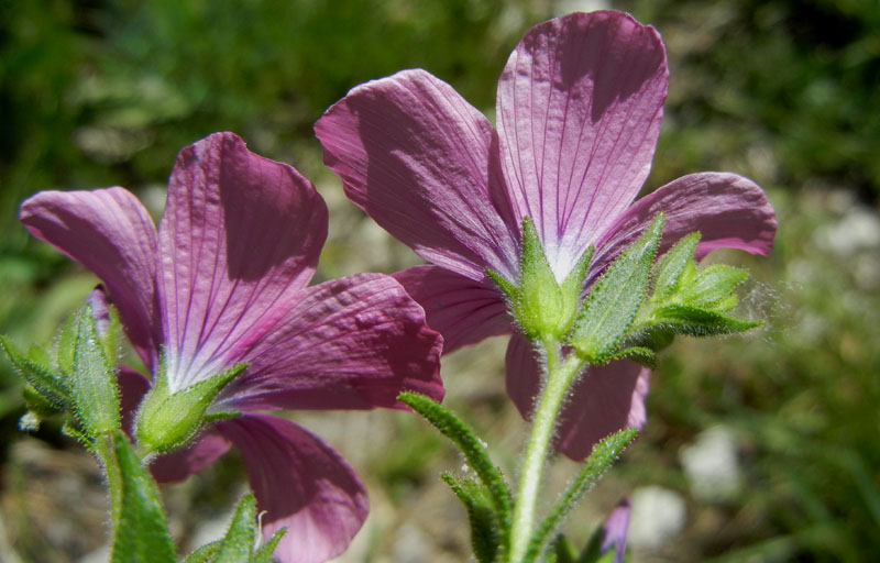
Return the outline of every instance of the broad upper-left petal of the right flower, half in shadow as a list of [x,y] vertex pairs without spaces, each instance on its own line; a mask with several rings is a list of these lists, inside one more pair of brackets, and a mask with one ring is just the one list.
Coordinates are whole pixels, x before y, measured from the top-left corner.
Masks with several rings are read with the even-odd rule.
[[515,279],[516,231],[490,194],[492,125],[451,86],[425,70],[367,82],[315,132],[348,197],[418,255],[471,279],[486,266]]

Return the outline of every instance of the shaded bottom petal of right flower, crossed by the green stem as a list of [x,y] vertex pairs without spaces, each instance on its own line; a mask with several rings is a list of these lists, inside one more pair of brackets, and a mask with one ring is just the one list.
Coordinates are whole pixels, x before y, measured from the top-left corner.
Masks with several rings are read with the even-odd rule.
[[[531,344],[514,334],[507,347],[507,394],[522,418],[530,420],[540,387]],[[583,460],[600,440],[625,428],[645,424],[645,397],[650,369],[628,360],[591,367],[574,384],[562,408],[556,448]]]

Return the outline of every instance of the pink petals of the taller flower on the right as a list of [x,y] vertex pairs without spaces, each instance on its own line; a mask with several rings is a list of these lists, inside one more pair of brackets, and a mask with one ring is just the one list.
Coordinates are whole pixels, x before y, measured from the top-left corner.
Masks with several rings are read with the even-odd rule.
[[[658,211],[661,252],[700,231],[717,247],[769,252],[772,207],[734,174],[679,178],[634,201],[648,176],[667,93],[660,35],[629,15],[575,13],[532,27],[498,81],[497,131],[448,84],[405,70],[351,90],[315,126],[348,197],[432,266],[396,275],[444,351],[514,332],[507,391],[528,417],[540,369],[486,267],[519,277],[522,218],[558,280],[595,245],[586,289]],[[563,412],[558,448],[586,456],[598,439],[641,427],[649,372],[592,368]]]

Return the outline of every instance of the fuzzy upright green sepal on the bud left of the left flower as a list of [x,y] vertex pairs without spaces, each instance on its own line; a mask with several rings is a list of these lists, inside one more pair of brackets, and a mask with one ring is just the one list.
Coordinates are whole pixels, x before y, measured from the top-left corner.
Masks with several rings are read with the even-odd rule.
[[80,308],[76,319],[70,395],[74,413],[87,435],[96,438],[119,430],[121,421],[116,356],[107,357],[88,305]]

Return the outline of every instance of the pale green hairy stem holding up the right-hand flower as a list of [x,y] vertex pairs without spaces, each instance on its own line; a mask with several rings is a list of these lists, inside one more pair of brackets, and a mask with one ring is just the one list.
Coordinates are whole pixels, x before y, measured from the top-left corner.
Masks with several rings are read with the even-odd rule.
[[526,444],[526,457],[522,461],[519,488],[514,504],[509,552],[509,561],[513,563],[521,563],[526,556],[535,527],[541,475],[557,426],[557,417],[572,380],[584,367],[584,362],[575,354],[563,360],[558,341],[546,340],[542,345],[547,355],[547,377],[532,419],[531,434]]

